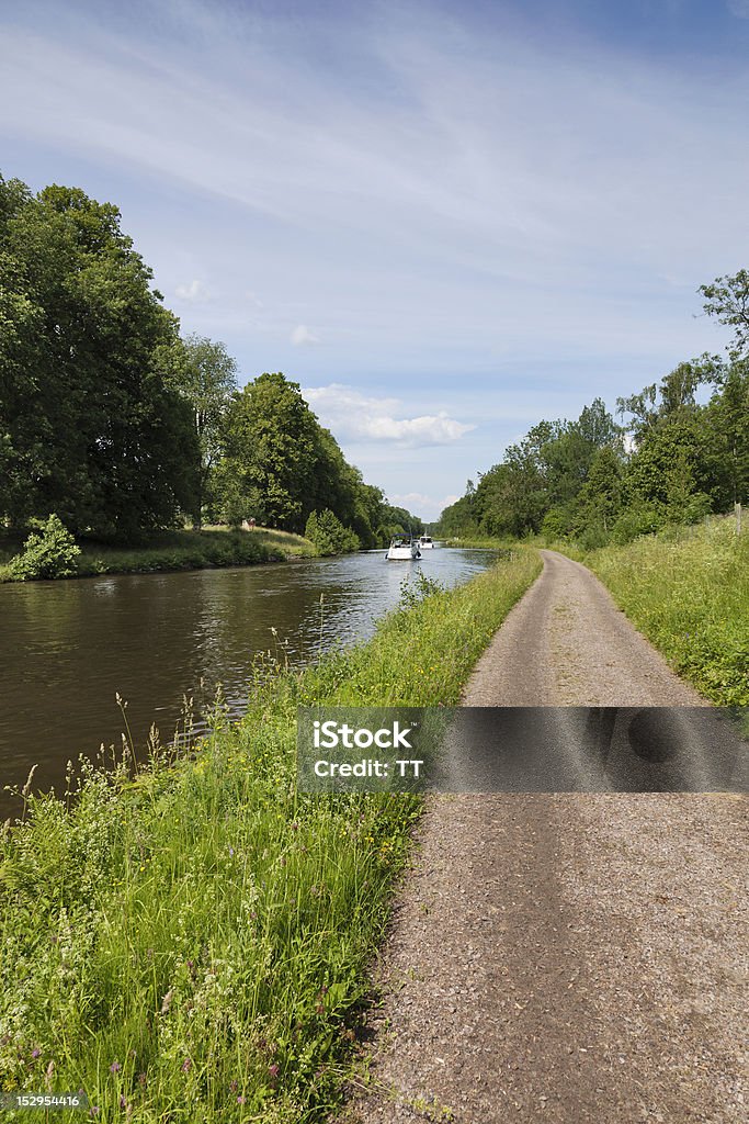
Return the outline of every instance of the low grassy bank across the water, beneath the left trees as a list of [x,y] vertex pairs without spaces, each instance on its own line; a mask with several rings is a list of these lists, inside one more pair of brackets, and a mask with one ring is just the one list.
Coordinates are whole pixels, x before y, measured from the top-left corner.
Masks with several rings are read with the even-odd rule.
[[[111,546],[82,540],[74,577],[101,573],[152,573],[161,570],[204,570],[212,566],[253,565],[287,556],[313,555],[301,535],[258,527],[252,532],[204,528],[161,532],[139,547]],[[22,542],[6,540],[0,546],[0,581],[10,581],[7,562],[22,551]]]

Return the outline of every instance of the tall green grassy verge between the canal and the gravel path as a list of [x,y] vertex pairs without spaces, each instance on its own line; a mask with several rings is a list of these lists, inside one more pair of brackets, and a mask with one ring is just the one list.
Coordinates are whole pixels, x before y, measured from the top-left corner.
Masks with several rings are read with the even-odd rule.
[[515,551],[366,645],[257,667],[245,718],[218,708],[191,760],[30,798],[0,842],[0,1087],[83,1089],[134,1124],[327,1118],[420,804],[299,796],[296,706],[456,701],[539,570]]

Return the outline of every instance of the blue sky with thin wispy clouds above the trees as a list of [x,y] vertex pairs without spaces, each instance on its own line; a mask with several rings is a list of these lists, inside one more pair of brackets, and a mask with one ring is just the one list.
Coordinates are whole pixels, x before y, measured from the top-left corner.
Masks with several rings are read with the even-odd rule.
[[749,0],[0,0],[0,172],[117,203],[184,334],[426,519],[722,351]]

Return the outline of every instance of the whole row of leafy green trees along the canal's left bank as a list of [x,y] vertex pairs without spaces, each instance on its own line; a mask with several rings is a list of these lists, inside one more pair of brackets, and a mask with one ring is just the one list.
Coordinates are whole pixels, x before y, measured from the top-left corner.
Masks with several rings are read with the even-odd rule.
[[221,343],[180,337],[120,214],[77,188],[0,176],[0,525],[55,513],[135,542],[203,522],[304,533],[322,549],[422,529],[348,464],[295,382],[238,389]]

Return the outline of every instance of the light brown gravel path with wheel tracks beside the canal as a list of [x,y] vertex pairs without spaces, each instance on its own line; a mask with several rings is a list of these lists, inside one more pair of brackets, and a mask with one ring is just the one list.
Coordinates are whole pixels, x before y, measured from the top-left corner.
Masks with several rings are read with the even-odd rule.
[[[700,701],[587,570],[544,556],[466,704]],[[746,809],[433,798],[377,973],[371,1086],[346,1118],[747,1121]]]

